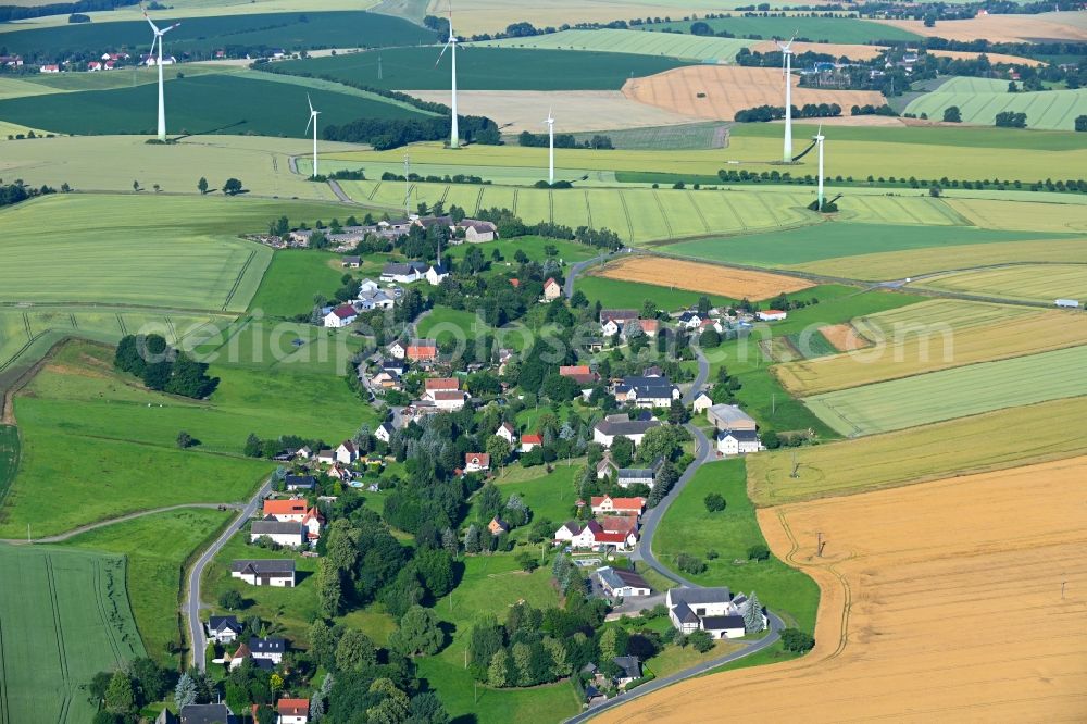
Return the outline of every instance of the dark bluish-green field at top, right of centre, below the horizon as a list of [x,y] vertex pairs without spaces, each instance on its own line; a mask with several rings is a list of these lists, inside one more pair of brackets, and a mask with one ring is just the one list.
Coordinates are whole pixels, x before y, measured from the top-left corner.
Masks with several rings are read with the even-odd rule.
[[[858,20],[855,17],[712,17],[701,21],[714,33],[727,30],[737,38],[759,37],[764,40],[787,39],[794,34],[812,42],[874,43],[882,41],[917,40],[919,36],[901,28]],[[652,32],[690,33],[692,21],[673,21],[647,25]]]

